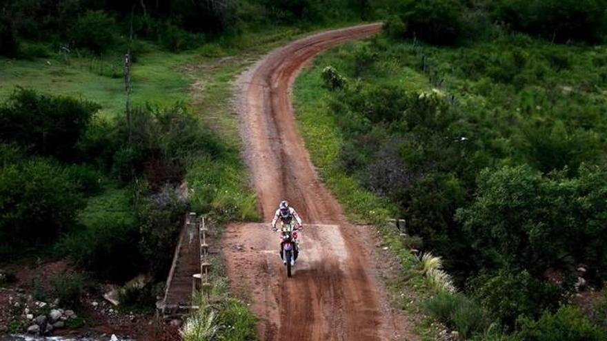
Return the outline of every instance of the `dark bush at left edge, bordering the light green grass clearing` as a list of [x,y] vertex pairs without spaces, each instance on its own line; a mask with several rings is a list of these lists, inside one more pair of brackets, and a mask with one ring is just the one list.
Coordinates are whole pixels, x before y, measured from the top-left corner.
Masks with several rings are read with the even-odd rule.
[[77,158],[74,146],[99,108],[89,101],[19,87],[0,106],[0,141],[66,161]]

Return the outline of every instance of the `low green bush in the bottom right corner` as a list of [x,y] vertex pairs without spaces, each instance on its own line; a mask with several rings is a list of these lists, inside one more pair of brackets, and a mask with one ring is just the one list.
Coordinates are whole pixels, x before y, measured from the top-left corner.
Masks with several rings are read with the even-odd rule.
[[590,323],[584,313],[570,306],[556,313],[544,313],[537,321],[524,318],[521,331],[515,335],[521,341],[600,341],[607,340],[607,331]]

